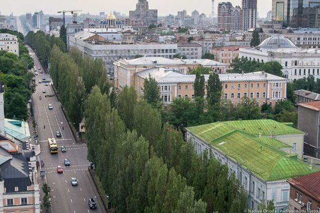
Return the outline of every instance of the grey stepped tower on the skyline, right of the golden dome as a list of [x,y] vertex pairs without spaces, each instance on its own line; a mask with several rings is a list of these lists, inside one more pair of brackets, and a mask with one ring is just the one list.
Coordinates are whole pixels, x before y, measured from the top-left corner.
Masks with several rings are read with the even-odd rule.
[[129,19],[141,20],[145,26],[157,25],[158,11],[150,10],[148,1],[138,0],[135,11],[129,11]]

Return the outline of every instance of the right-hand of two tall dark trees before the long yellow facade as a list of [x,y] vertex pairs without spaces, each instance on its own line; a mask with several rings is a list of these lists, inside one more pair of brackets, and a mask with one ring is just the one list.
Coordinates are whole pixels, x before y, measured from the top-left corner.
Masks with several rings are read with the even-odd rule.
[[214,105],[220,102],[222,92],[222,84],[216,73],[211,73],[208,79],[207,100],[208,103]]

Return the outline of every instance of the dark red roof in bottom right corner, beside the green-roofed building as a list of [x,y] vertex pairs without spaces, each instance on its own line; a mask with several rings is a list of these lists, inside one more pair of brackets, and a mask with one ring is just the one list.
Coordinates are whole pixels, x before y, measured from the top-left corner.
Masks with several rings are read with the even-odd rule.
[[293,187],[320,202],[320,171],[287,181]]

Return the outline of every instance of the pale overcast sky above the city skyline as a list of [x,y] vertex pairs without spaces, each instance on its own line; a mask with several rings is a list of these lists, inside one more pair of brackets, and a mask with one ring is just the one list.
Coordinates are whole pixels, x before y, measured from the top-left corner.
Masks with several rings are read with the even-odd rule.
[[[231,2],[233,6],[241,6],[241,0],[215,0],[215,10],[219,2]],[[27,12],[43,11],[45,14],[56,14],[60,10],[83,10],[82,13],[99,14],[117,11],[129,15],[134,10],[138,0],[3,0],[0,7],[2,15],[22,15]],[[258,13],[266,17],[271,10],[271,0],[258,0]],[[191,14],[193,10],[206,15],[211,13],[211,0],[149,0],[150,9],[158,9],[159,16],[177,15],[177,11],[186,10]],[[216,13],[216,12],[215,12]]]

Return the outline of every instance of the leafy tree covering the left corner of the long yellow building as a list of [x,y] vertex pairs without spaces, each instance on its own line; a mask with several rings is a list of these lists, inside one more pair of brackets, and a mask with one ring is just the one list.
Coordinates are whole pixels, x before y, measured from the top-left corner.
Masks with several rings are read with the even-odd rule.
[[152,107],[158,108],[161,104],[160,91],[158,83],[156,82],[155,78],[151,77],[150,74],[148,78],[144,79],[142,91],[146,102],[151,104]]

